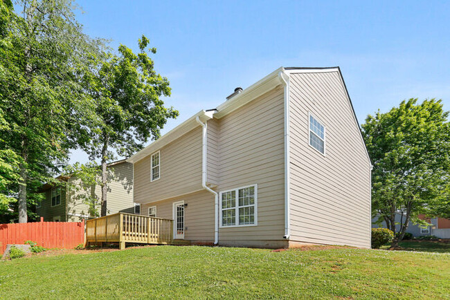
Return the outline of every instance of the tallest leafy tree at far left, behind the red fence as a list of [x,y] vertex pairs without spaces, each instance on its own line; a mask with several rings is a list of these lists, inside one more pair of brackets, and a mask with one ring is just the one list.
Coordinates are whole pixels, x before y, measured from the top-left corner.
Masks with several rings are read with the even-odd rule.
[[81,121],[93,118],[80,78],[98,43],[82,33],[71,0],[19,0],[23,17],[8,5],[0,10],[0,109],[8,125],[0,129],[0,149],[19,157],[19,180],[8,190],[17,193],[24,223],[27,200],[39,200],[35,192],[82,138]]

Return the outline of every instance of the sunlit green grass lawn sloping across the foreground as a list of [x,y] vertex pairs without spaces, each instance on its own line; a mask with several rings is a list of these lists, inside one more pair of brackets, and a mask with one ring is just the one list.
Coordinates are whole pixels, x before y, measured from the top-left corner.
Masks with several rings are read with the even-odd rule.
[[0,261],[11,298],[449,298],[450,254],[141,247]]

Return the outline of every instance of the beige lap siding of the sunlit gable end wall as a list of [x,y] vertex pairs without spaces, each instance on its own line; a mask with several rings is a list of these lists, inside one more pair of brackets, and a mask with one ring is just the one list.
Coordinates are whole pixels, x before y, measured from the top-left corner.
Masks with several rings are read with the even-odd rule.
[[[290,79],[291,241],[370,247],[370,160],[336,72]],[[309,146],[309,115],[325,156]]]

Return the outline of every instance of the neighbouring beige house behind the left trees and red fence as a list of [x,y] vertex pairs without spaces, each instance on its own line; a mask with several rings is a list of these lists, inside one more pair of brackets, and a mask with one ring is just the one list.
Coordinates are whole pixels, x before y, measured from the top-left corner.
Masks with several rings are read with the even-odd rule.
[[[107,165],[108,194],[107,212],[139,213],[139,205],[133,202],[133,166],[125,160],[118,160]],[[37,207],[37,214],[44,221],[80,221],[100,214],[101,187],[82,187],[75,176],[59,177],[69,182],[78,190],[66,193],[63,187],[44,185],[45,200]],[[69,195],[67,195],[69,194]],[[91,203],[91,205],[89,205]],[[95,211],[94,211],[95,209]]]

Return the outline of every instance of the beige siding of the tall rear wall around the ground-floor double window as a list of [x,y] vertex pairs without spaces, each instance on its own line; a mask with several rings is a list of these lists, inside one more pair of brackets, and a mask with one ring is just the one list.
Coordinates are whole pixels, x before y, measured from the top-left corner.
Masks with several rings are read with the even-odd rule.
[[270,247],[284,235],[283,90],[219,119],[219,187],[258,185],[258,225],[222,227],[219,244]]

